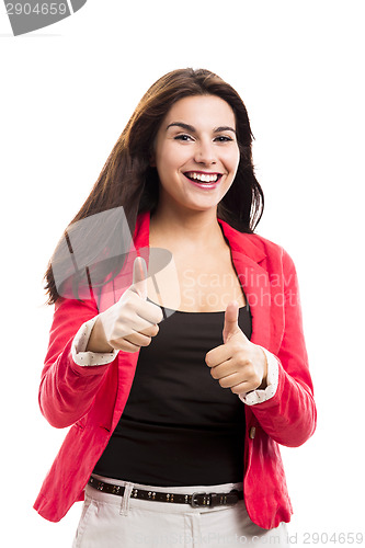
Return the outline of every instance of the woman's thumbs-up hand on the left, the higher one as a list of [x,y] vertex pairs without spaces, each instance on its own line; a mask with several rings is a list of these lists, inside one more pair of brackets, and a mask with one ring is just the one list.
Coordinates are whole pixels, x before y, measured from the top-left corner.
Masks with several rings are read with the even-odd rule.
[[133,284],[115,305],[98,316],[87,351],[106,353],[113,350],[137,352],[148,346],[159,332],[162,320],[159,306],[147,301],[147,266],[137,256],[133,265]]

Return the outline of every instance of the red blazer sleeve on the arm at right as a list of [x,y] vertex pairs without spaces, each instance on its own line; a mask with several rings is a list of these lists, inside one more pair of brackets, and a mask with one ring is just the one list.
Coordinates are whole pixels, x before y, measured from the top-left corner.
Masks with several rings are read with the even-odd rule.
[[284,333],[277,355],[275,395],[251,407],[262,429],[288,447],[304,444],[315,432],[317,411],[305,344],[299,287],[295,265],[282,250]]

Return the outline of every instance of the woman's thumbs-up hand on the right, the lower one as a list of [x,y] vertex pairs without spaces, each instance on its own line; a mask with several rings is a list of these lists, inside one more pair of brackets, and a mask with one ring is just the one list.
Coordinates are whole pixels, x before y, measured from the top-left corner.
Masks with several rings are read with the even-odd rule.
[[247,393],[266,387],[267,364],[264,351],[249,341],[238,326],[239,305],[228,304],[223,329],[224,344],[210,350],[205,362],[223,388]]

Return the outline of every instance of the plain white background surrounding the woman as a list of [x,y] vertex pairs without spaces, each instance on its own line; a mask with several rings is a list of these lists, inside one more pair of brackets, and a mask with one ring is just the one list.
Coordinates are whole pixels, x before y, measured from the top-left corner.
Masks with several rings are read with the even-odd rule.
[[[52,308],[42,276],[147,88],[208,68],[241,94],[266,206],[258,232],[299,275],[319,422],[283,448],[297,546],[364,526],[364,18],[358,1],[96,1],[1,48],[1,510],[4,546],[71,546],[32,509],[65,437],[37,388]],[[316,538],[309,538],[309,546]],[[319,546],[334,546],[322,535]],[[342,546],[350,546],[350,541]]]

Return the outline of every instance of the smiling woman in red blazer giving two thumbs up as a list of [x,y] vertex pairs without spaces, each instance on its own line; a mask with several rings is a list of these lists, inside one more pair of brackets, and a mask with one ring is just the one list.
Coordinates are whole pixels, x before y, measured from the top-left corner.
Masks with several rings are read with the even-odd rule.
[[[72,427],[35,509],[84,499],[75,547],[287,545],[278,445],[316,408],[295,266],[253,232],[251,141],[229,84],[166,75],[54,254],[39,404]],[[105,221],[121,210],[133,242]]]

